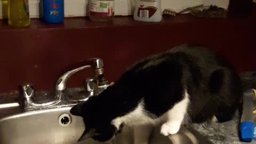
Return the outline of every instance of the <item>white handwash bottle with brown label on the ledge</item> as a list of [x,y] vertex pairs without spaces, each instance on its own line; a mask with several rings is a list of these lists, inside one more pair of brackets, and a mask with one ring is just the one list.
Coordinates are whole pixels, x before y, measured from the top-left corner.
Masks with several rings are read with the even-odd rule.
[[161,0],[137,0],[133,18],[147,22],[162,21]]

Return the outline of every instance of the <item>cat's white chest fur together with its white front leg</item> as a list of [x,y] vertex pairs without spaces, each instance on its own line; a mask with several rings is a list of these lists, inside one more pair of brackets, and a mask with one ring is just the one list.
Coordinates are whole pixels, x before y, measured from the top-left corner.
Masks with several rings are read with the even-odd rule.
[[115,125],[115,127],[119,130],[121,124],[125,124],[128,126],[137,126],[137,125],[148,125],[155,124],[158,122],[163,122],[161,128],[161,133],[163,135],[175,134],[179,131],[180,125],[183,122],[186,114],[187,108],[189,104],[189,95],[187,90],[185,90],[184,98],[175,103],[175,105],[161,117],[156,119],[149,116],[144,109],[144,101],[142,100],[137,108],[135,108],[130,113],[117,117],[111,121],[111,124]]

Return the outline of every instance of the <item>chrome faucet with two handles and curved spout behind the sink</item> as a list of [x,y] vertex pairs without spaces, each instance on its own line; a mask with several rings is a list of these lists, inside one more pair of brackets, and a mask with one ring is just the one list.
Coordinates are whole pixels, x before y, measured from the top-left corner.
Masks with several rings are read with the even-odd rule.
[[[37,109],[47,109],[47,108],[56,108],[56,107],[65,107],[65,106],[73,106],[78,102],[86,101],[89,97],[93,95],[98,95],[103,90],[107,89],[109,86],[108,81],[104,78],[104,65],[102,59],[92,58],[79,63],[78,68],[67,71],[67,73],[63,74],[57,81],[55,96],[53,100],[45,101],[37,101],[35,102],[33,97],[35,94],[34,86],[31,84],[25,84],[22,86],[22,95],[23,95],[23,105],[22,108],[25,111],[29,110],[37,110]],[[68,97],[66,93],[66,82],[68,78],[75,74],[77,71],[93,68],[95,78],[86,78],[85,81],[85,95],[83,98],[79,99],[71,99]]]

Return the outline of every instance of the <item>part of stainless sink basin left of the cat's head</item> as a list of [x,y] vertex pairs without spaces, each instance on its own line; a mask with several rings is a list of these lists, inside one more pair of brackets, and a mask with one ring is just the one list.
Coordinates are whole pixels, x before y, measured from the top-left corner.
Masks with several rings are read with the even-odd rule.
[[[71,116],[69,110],[70,107],[29,111],[0,119],[0,143],[77,143],[84,130],[83,119]],[[71,116],[68,126],[59,124],[62,114]]]

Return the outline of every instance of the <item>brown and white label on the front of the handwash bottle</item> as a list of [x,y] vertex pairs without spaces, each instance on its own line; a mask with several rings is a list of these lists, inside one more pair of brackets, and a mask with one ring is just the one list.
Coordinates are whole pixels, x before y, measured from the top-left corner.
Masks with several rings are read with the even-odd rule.
[[157,11],[156,0],[140,0],[138,17],[140,18],[151,18]]

